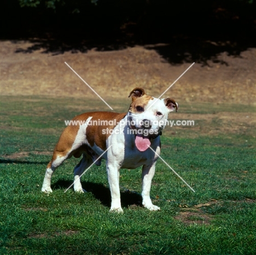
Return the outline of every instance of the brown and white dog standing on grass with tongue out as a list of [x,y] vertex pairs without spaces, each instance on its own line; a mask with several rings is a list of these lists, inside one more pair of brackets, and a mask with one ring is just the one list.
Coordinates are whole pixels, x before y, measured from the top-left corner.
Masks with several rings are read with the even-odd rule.
[[[55,169],[65,159],[83,156],[74,168],[74,190],[84,192],[80,175],[102,155],[106,159],[109,188],[112,198],[110,211],[123,212],[119,190],[119,169],[142,167],[142,204],[149,210],[160,208],[152,204],[150,187],[155,173],[155,164],[160,155],[160,137],[165,128],[168,112],[178,104],[172,98],[158,99],[147,96],[143,88],[134,88],[129,111],[86,112],[73,118],[82,124],[67,126],[55,146],[53,158],[47,165],[42,191],[52,192],[50,183]],[[76,122],[76,123],[78,123]],[[101,123],[101,124],[98,124]],[[102,124],[103,123],[103,124]],[[150,150],[149,146],[153,149]],[[156,152],[156,153],[155,153]],[[95,162],[101,164],[101,159]]]

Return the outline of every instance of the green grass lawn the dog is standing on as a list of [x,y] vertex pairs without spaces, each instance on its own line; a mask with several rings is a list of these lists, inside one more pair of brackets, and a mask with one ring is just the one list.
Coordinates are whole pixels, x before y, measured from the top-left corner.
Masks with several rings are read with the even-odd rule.
[[[53,151],[64,120],[84,111],[109,110],[107,106],[89,99],[0,99],[0,254],[255,254],[253,126],[248,125],[247,132],[212,135],[216,117],[198,121],[200,128],[166,128],[161,156],[196,192],[159,160],[151,197],[161,211],[150,212],[141,206],[141,169],[122,169],[124,214],[118,215],[109,213],[104,163],[84,175],[87,193],[64,193],[73,181],[75,158],[56,170],[52,194],[40,192],[51,157],[45,152]],[[127,109],[121,102],[110,105],[117,111]],[[236,108],[187,104],[179,112],[193,119],[193,114],[224,109],[231,114]],[[240,112],[247,115],[255,108],[247,105]],[[208,134],[201,134],[206,128]]]

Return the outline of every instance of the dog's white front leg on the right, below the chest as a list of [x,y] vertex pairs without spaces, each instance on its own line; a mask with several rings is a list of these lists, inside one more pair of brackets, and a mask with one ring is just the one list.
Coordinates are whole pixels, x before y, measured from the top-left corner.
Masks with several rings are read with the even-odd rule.
[[150,211],[160,210],[158,206],[152,204],[150,199],[150,188],[155,174],[155,163],[152,165],[143,165],[142,168],[142,205]]

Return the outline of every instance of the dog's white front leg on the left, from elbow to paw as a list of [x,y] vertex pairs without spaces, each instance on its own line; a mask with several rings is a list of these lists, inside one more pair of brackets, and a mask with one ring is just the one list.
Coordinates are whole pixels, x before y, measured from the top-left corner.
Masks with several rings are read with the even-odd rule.
[[121,208],[120,189],[119,189],[119,168],[107,164],[108,183],[111,193],[110,212],[123,212]]

